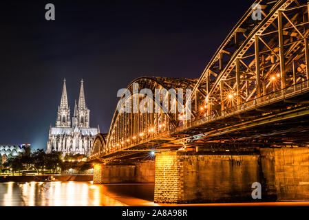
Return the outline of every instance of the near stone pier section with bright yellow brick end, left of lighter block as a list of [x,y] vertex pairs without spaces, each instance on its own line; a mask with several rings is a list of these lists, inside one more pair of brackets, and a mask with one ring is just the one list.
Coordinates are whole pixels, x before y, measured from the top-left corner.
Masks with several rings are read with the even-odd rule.
[[262,181],[259,155],[162,152],[156,155],[154,201],[205,203],[252,201],[251,185]]

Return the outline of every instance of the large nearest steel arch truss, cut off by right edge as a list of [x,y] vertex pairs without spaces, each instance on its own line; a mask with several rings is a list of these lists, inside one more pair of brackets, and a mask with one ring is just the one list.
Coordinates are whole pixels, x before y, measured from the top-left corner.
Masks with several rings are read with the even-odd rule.
[[[222,115],[226,109],[308,79],[307,1],[255,1],[206,66],[192,92],[195,119]],[[206,89],[205,89],[206,88]],[[200,106],[207,106],[207,110]]]

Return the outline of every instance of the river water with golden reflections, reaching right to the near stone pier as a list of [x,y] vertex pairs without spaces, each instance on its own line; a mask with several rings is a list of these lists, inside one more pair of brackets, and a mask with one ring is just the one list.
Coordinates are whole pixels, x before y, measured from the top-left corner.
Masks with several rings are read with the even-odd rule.
[[0,206],[156,206],[154,184],[0,183]]

